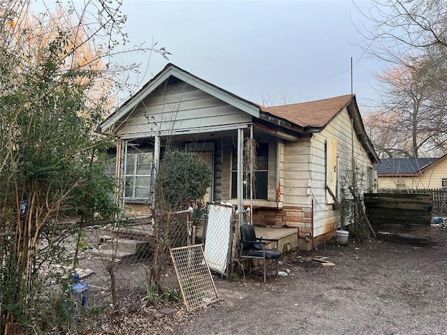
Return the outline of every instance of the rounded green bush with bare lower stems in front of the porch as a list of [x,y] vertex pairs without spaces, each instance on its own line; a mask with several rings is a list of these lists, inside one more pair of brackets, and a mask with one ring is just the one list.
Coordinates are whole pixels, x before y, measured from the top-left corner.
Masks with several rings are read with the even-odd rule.
[[[163,265],[169,263],[169,248],[186,244],[186,222],[178,211],[203,204],[203,197],[211,184],[211,170],[196,152],[168,149],[156,175],[154,239],[156,241],[151,276],[158,294],[166,288],[161,278]],[[150,286],[150,280],[149,280]]]

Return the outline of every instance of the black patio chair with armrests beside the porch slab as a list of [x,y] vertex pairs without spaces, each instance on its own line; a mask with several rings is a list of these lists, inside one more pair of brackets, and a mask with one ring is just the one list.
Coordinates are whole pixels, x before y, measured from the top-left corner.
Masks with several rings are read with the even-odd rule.
[[[275,248],[265,248],[269,242],[275,242]],[[282,257],[281,251],[278,249],[279,239],[263,239],[256,238],[254,225],[240,226],[240,258],[256,258],[263,260],[264,267],[264,283],[266,282],[267,262],[266,260],[277,261],[277,275],[279,271],[279,258]]]

